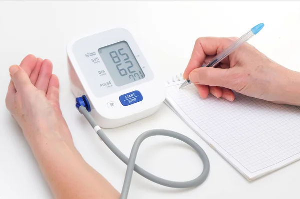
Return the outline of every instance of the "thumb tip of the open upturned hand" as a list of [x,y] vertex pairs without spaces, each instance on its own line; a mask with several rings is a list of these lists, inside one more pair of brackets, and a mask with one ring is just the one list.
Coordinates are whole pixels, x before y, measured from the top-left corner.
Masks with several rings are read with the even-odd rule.
[[14,84],[16,91],[22,90],[31,85],[30,79],[27,73],[18,65],[12,65],[9,67],[9,74]]

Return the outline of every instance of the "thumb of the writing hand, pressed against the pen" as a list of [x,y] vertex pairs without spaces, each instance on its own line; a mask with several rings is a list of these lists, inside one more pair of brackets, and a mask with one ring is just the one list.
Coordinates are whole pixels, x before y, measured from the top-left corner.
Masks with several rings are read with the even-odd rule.
[[200,67],[189,73],[189,80],[194,84],[219,86],[233,89],[237,86],[234,68]]

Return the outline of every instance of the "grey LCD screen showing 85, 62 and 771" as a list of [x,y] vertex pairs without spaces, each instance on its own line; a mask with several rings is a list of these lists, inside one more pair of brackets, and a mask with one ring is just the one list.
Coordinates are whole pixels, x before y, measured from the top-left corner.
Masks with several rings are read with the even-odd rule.
[[126,41],[98,49],[98,53],[116,86],[122,86],[145,77]]

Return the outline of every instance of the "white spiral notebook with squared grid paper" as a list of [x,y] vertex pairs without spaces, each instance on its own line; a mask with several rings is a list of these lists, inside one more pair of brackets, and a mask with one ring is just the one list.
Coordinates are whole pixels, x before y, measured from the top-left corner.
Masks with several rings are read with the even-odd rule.
[[300,108],[235,93],[233,102],[199,97],[182,74],[166,83],[165,103],[249,181],[300,159]]

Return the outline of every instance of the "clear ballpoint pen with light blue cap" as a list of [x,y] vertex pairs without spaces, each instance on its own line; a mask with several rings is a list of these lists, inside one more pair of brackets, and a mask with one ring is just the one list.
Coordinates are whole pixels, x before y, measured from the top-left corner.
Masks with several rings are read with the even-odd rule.
[[[243,34],[239,39],[237,39],[234,43],[232,43],[230,46],[224,49],[224,51],[216,55],[206,65],[202,65],[201,67],[215,67],[221,60],[223,60],[226,56],[233,52],[237,47],[239,47],[241,44],[249,40],[252,36],[257,34],[263,28],[263,26],[263,23],[255,25],[249,31]],[[190,83],[190,80],[187,79],[181,84],[179,88],[183,88],[184,86],[187,86]]]

